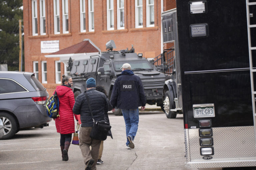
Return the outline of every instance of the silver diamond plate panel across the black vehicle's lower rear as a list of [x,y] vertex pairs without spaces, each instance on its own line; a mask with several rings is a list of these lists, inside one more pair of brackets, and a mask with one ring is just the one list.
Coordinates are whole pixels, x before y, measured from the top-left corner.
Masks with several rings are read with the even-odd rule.
[[256,166],[253,126],[212,129],[214,155],[210,160],[200,155],[198,128],[184,129],[186,158],[191,168]]

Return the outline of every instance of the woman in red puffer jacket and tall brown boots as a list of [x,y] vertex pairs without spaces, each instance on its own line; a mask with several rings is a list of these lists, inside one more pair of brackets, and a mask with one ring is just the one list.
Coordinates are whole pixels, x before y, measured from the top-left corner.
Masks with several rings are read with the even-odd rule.
[[[57,132],[60,133],[60,148],[62,160],[68,160],[68,148],[71,142],[72,133],[75,132],[73,106],[75,103],[74,93],[71,90],[73,81],[71,76],[62,75],[62,85],[56,87],[59,98],[59,117],[54,119]],[[54,93],[55,93],[54,91]],[[53,93],[53,94],[54,94]],[[77,115],[75,115],[78,121]]]

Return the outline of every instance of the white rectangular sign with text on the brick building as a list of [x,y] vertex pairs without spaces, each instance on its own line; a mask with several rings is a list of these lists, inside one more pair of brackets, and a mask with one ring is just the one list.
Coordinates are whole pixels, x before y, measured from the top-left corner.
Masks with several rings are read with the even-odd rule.
[[60,41],[41,41],[41,53],[51,53],[60,50]]

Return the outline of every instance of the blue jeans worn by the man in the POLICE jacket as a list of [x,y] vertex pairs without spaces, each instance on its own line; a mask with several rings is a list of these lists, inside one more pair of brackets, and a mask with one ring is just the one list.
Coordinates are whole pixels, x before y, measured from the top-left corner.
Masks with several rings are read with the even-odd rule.
[[[130,135],[133,140],[138,130],[139,109],[122,109],[122,114],[124,116],[126,136]],[[127,139],[126,145],[129,145],[129,143]]]

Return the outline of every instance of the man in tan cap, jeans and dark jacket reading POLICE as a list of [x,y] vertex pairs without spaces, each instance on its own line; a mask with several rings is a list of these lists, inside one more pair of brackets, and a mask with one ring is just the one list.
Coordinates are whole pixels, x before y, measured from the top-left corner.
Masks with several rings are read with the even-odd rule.
[[[146,97],[144,94],[144,86],[139,76],[134,75],[129,63],[123,64],[120,68],[122,73],[117,75],[110,103],[113,108],[122,109],[126,127],[126,148],[134,148],[134,137],[138,130],[139,109],[145,109]],[[112,110],[113,112],[115,109]]]

